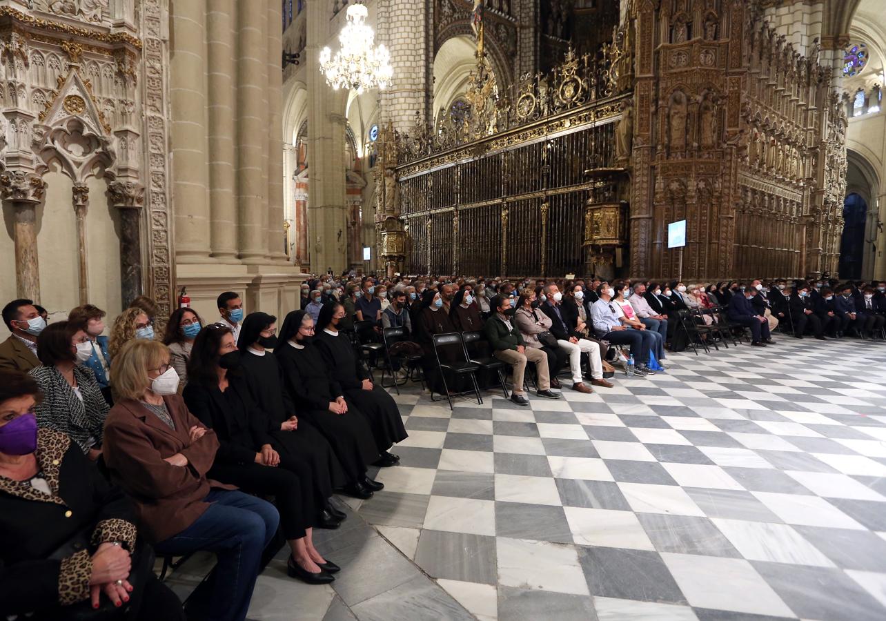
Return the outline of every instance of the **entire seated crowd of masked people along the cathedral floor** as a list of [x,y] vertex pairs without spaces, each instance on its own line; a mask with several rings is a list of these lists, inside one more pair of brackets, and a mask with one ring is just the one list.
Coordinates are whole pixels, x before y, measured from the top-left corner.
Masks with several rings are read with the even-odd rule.
[[755,346],[773,344],[776,328],[796,338],[886,337],[886,283],[352,274],[312,278],[300,301],[278,330],[275,316],[245,315],[239,294],[227,291],[214,322],[178,308],[162,336],[154,332],[157,307],[144,297],[110,330],[91,305],[47,325],[31,300],[6,304],[5,617],[106,609],[102,618],[184,618],[153,560],[199,550],[216,565],[189,602],[212,619],[245,618],[261,568],[284,545],[291,577],[333,581],[338,565],[316,549],[314,529],[346,518],[334,493],[369,499],[381,490],[369,466],[395,466],[390,449],[408,437],[361,354],[362,339],[385,343],[390,329],[441,394],[459,389],[441,362],[467,347],[438,347],[435,335],[476,334],[470,342],[510,369],[509,399],[520,406],[529,403],[527,368],[543,399],[558,399],[563,388],[610,388],[613,364],[637,376],[667,369],[667,353],[687,345],[687,321],[729,322],[750,330]]

